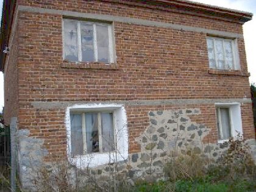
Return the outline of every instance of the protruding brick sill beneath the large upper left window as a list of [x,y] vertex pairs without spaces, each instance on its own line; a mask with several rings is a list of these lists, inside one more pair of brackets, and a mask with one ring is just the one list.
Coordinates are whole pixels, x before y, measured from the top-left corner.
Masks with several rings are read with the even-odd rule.
[[99,62],[62,62],[61,68],[67,69],[104,69],[104,70],[118,70],[116,63],[99,63]]

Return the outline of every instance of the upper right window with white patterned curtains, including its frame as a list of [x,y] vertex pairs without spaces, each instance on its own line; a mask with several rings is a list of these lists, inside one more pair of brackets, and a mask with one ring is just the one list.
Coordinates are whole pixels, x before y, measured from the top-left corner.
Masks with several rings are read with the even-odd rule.
[[209,67],[212,69],[240,69],[236,40],[207,37]]

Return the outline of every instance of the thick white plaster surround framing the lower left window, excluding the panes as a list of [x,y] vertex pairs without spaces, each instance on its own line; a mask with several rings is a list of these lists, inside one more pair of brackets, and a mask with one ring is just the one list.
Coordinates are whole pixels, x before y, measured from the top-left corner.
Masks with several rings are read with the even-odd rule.
[[[81,133],[81,146],[85,146],[82,152],[72,152],[71,144],[71,115],[72,114],[112,114],[113,126],[115,137],[115,149],[108,152],[102,152],[99,149],[98,152],[86,151],[86,136]],[[71,114],[71,115],[70,115]],[[84,121],[84,120],[83,120]],[[128,131],[127,131],[127,117],[126,110],[123,105],[118,104],[84,104],[73,105],[66,108],[65,116],[66,132],[67,132],[67,154],[68,160],[73,165],[79,168],[95,167],[104,165],[107,163],[119,162],[128,158]],[[100,137],[99,137],[100,138]],[[102,143],[102,141],[101,141]],[[99,146],[101,148],[102,146]],[[104,146],[103,146],[104,147]]]

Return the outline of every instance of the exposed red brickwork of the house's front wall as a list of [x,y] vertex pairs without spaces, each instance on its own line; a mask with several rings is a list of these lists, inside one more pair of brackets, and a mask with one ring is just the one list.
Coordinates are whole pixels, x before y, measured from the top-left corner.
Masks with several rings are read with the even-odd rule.
[[[243,32],[241,24],[237,23],[100,1],[21,0],[19,4],[83,13],[129,16],[240,34]],[[20,129],[30,129],[31,136],[45,138],[46,148],[55,155],[63,155],[66,152],[65,110],[37,109],[30,104],[32,101],[251,96],[247,77],[208,74],[207,35],[203,33],[115,22],[113,26],[118,68],[75,69],[61,67],[62,16],[21,12],[18,23]],[[241,71],[246,73],[244,41],[241,38],[238,39],[238,49]],[[10,95],[9,92],[5,94]],[[130,152],[140,150],[134,138],[148,126],[149,110],[169,107],[126,107]],[[196,107],[201,108],[202,115],[195,118],[212,128],[212,132],[205,140],[216,141],[214,105]],[[241,110],[244,135],[246,138],[252,138],[254,129],[251,104],[242,105]]]

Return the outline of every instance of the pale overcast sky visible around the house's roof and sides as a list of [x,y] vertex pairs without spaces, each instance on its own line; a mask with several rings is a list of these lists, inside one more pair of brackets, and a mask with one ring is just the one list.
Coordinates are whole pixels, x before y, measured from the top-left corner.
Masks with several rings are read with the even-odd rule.
[[[204,4],[226,7],[229,9],[243,10],[245,12],[254,13],[256,16],[255,0],[193,0]],[[2,0],[0,0],[0,17],[2,15]],[[248,21],[244,24],[244,40],[246,46],[246,55],[248,63],[248,71],[251,73],[249,80],[256,83],[256,19]],[[1,18],[0,18],[1,19]],[[4,76],[0,72],[0,111],[4,107]]]

